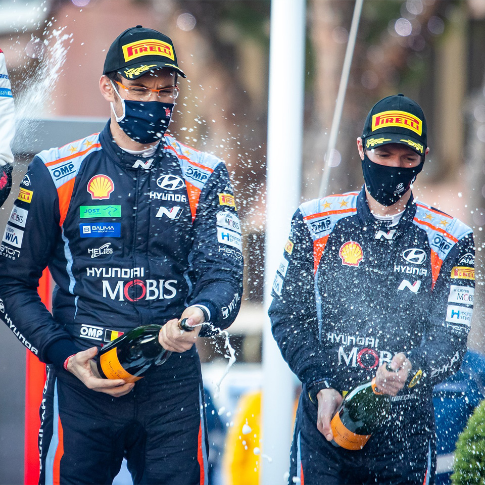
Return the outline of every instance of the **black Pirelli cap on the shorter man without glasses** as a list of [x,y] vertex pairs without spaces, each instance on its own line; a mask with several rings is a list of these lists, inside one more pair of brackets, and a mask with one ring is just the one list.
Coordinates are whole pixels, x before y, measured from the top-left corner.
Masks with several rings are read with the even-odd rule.
[[366,150],[387,143],[401,143],[424,156],[427,128],[423,110],[404,94],[387,96],[369,111],[362,139]]

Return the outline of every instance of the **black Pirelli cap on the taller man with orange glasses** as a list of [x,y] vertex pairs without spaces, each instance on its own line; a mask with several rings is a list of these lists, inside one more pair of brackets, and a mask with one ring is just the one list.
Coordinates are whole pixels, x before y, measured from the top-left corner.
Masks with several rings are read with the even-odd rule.
[[137,25],[118,35],[111,44],[103,74],[117,71],[127,79],[136,79],[162,67],[186,77],[178,67],[172,40],[157,30]]

